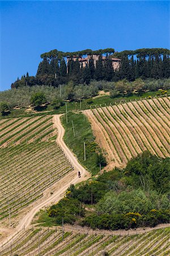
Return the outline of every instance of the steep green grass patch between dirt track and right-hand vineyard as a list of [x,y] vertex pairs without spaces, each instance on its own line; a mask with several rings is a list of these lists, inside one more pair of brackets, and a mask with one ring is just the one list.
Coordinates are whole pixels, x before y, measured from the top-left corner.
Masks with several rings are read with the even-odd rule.
[[[99,148],[95,143],[95,137],[92,134],[91,125],[87,117],[82,113],[69,112],[68,123],[66,122],[66,115],[64,115],[62,117],[62,125],[65,128],[64,141],[67,146],[77,156],[80,164],[90,171],[92,175],[96,175],[99,172],[99,167],[96,164],[96,151],[99,151]],[[84,161],[84,142],[86,144],[86,161]]]

